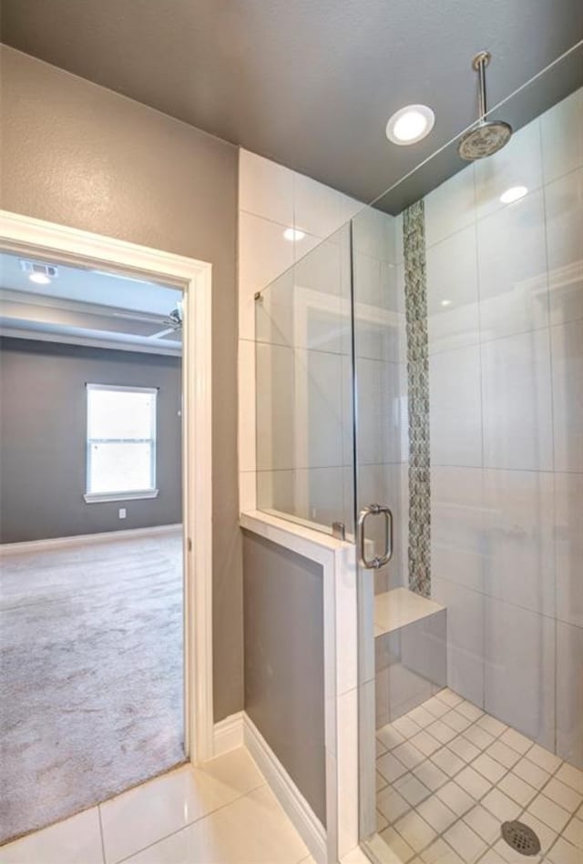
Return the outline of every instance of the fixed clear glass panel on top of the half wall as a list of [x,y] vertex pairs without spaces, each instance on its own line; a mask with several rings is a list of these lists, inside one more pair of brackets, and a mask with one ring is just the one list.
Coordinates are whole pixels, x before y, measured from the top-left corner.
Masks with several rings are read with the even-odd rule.
[[350,229],[256,300],[257,500],[330,532],[353,522]]

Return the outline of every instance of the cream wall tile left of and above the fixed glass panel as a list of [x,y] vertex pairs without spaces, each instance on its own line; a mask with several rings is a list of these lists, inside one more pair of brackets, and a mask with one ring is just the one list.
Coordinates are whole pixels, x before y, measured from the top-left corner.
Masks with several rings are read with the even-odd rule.
[[[256,506],[255,292],[338,230],[363,205],[269,159],[239,156],[240,507]],[[284,237],[299,229],[300,240]],[[292,286],[291,286],[292,290]],[[314,358],[316,360],[317,358]],[[285,394],[282,394],[285,395]],[[336,476],[336,475],[335,475]],[[268,480],[270,478],[267,478]],[[284,478],[283,478],[284,479]]]

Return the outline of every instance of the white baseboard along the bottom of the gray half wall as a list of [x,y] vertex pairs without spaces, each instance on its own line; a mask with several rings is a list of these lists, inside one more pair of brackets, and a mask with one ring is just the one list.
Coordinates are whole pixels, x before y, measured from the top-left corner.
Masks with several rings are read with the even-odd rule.
[[215,755],[226,753],[242,744],[247,747],[257,763],[271,791],[278,799],[285,813],[292,820],[294,828],[310,849],[317,864],[326,864],[326,831],[322,822],[303,797],[292,778],[281,765],[259,729],[250,717],[241,711],[215,724]]

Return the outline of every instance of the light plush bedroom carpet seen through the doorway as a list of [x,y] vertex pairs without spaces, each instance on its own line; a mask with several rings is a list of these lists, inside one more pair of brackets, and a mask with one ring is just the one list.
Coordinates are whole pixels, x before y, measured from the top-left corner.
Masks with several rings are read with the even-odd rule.
[[184,760],[181,537],[0,558],[0,842]]

